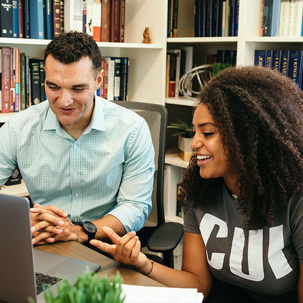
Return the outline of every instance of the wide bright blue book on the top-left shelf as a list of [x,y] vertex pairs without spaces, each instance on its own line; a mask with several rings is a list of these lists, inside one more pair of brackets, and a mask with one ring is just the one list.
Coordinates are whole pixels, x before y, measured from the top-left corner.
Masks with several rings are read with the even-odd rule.
[[44,39],[43,0],[30,0],[29,22],[31,39]]

